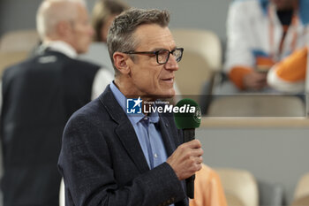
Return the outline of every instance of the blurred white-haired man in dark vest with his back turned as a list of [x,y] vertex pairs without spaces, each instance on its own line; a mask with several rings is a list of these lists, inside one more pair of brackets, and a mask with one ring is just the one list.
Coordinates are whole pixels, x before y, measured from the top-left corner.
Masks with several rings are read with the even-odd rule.
[[41,53],[5,70],[2,80],[4,206],[58,205],[64,125],[111,80],[100,66],[76,59],[94,34],[83,1],[43,1],[37,30]]

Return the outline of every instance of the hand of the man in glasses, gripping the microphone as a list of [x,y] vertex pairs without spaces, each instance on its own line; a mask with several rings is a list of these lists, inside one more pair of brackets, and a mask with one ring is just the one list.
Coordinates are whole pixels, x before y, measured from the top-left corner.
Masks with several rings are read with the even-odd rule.
[[203,162],[200,141],[188,141],[180,145],[166,161],[173,168],[179,180],[191,177],[200,171]]

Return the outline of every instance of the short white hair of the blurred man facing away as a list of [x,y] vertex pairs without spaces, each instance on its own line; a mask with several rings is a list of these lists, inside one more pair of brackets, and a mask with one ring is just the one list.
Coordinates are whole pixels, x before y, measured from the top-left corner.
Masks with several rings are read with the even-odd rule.
[[60,21],[73,21],[78,17],[78,4],[84,0],[44,0],[36,13],[36,29],[41,40],[55,33]]

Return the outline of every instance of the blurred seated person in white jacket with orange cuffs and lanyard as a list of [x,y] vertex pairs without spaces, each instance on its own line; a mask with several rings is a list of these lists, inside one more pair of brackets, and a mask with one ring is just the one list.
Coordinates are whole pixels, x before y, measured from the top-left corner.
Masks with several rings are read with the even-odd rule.
[[[302,0],[300,0],[302,1]],[[226,94],[271,91],[267,72],[272,65],[305,47],[298,0],[247,0],[230,4],[224,65],[232,84]]]

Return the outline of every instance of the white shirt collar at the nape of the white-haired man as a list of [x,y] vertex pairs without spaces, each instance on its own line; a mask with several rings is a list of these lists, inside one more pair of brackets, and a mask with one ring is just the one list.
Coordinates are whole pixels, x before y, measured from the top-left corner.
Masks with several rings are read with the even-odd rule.
[[44,47],[49,48],[50,50],[58,51],[63,53],[64,55],[71,57],[71,58],[76,58],[78,56],[76,50],[72,48],[72,46],[63,41],[50,41],[50,42],[45,42]]

